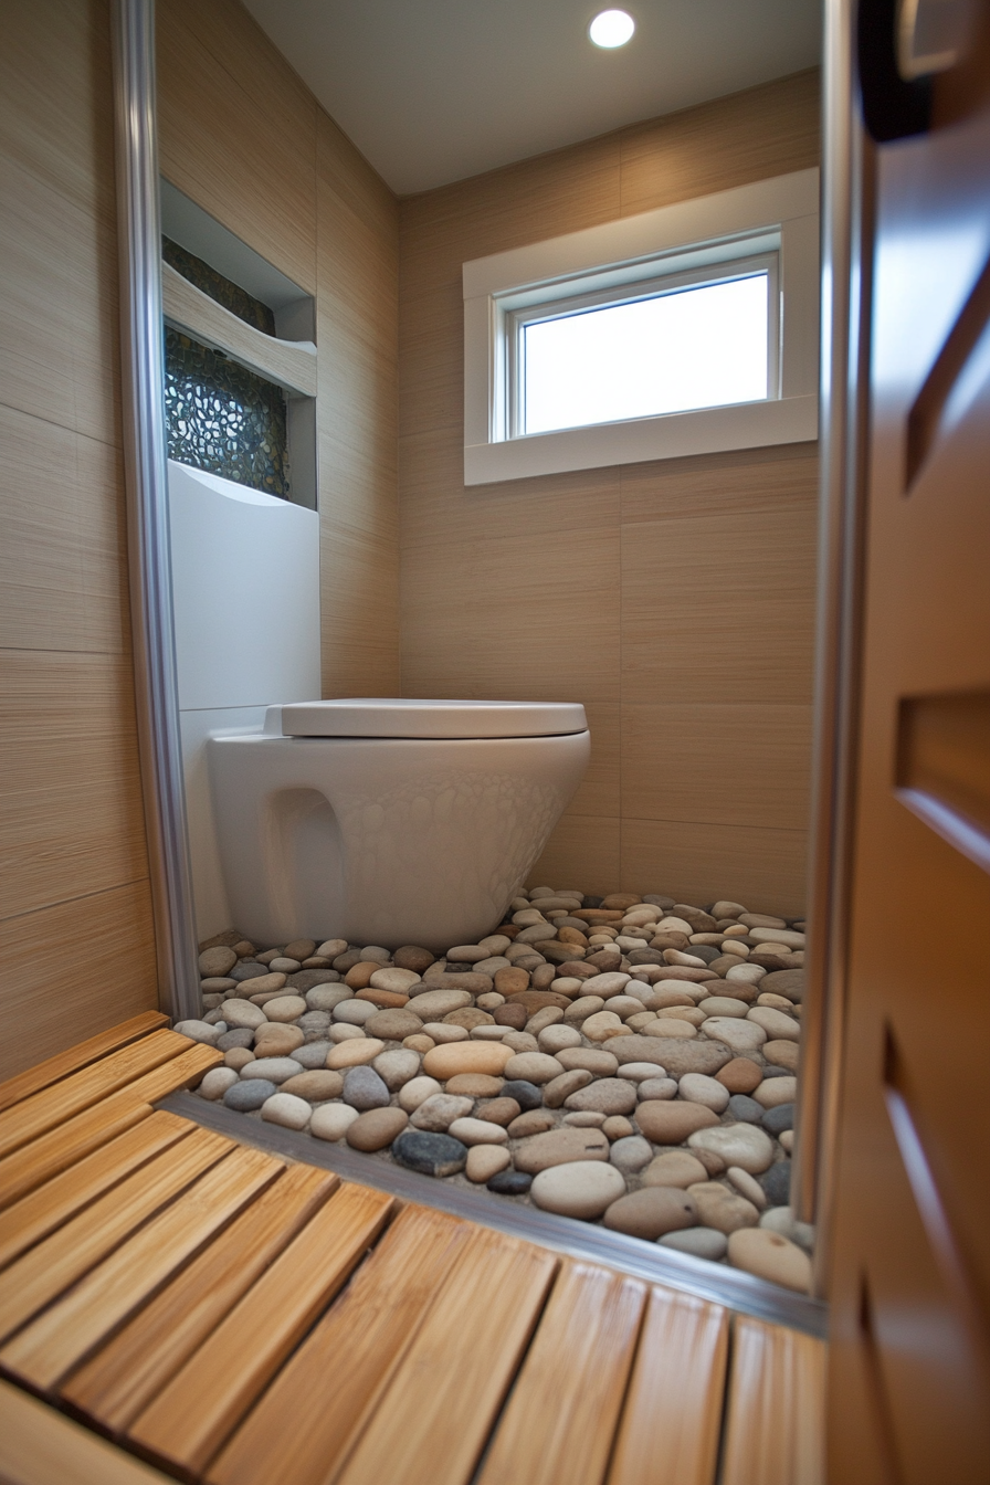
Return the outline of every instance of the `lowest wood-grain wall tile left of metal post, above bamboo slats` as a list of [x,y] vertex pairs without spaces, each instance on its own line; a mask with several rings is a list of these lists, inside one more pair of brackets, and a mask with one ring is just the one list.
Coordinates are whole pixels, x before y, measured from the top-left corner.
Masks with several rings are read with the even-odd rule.
[[148,882],[0,921],[0,1078],[157,1010]]

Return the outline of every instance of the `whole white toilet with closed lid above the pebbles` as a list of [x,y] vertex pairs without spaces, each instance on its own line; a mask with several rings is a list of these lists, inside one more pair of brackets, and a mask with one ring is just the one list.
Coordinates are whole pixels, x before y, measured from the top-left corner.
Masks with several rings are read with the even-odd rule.
[[341,699],[269,707],[208,744],[236,925],[447,949],[488,933],[588,766],[566,702]]

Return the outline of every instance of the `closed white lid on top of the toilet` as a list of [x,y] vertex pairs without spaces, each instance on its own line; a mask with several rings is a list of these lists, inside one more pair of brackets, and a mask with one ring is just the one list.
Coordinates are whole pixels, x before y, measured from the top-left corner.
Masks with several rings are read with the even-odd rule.
[[583,732],[573,701],[407,701],[344,698],[282,707],[286,738],[536,738]]

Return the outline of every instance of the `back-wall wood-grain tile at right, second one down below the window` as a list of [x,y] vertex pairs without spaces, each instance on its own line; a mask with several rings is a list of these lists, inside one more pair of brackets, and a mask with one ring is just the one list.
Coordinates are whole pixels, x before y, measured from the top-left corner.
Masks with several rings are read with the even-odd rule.
[[809,702],[810,503],[623,527],[625,701]]

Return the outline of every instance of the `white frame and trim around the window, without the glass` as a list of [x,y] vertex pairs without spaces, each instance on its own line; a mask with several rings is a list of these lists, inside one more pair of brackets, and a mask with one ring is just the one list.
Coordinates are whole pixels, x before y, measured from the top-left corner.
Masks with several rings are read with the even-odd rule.
[[[465,484],[815,440],[818,192],[816,169],[796,171],[465,263]],[[674,276],[702,282],[699,270],[767,254],[778,261],[779,309],[764,401],[515,432],[514,337],[527,313],[537,318],[534,307],[552,313],[588,296],[620,303],[668,275],[671,287]]]

